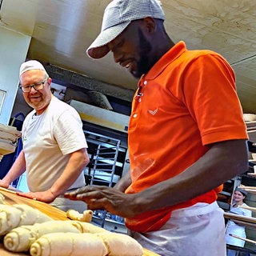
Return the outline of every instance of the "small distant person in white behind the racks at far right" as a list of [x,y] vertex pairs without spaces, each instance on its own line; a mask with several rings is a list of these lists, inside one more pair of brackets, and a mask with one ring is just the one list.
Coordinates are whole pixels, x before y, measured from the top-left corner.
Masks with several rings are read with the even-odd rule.
[[[244,202],[244,200],[246,199],[246,195],[247,195],[246,190],[242,190],[238,187],[234,190],[234,197],[233,197],[234,202],[233,202],[232,206],[230,207],[231,214],[238,214],[238,215],[247,216],[247,217],[252,216],[251,210],[243,209],[240,207],[240,206],[247,206],[246,203]],[[236,223],[232,220],[229,220],[226,223],[226,244],[231,245],[231,246],[239,246],[239,247],[245,246],[244,240],[234,238],[234,237],[230,236],[230,234],[235,234],[238,237],[246,238],[246,227],[245,226],[243,226],[239,223]],[[238,252],[235,250],[228,249],[226,251],[226,255],[227,256],[236,256],[236,255],[238,255]]]

